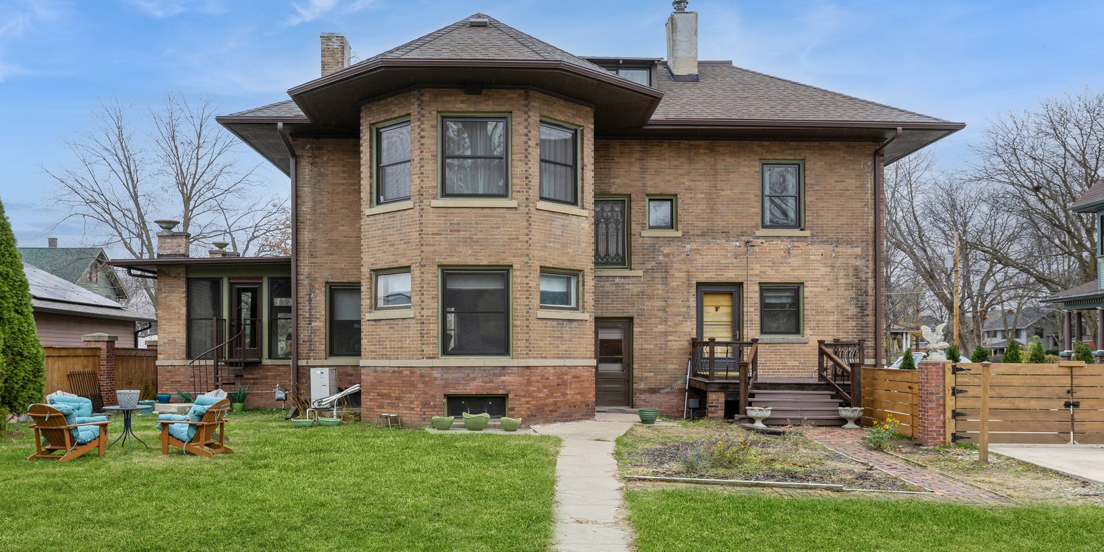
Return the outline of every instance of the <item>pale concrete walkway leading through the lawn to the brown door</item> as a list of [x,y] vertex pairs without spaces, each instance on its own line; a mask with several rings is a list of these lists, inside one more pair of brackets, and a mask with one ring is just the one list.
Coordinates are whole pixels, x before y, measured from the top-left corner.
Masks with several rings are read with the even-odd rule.
[[593,421],[533,426],[537,433],[563,439],[555,466],[552,550],[633,550],[633,533],[623,508],[624,485],[614,460],[614,440],[637,422],[636,414],[599,412]]

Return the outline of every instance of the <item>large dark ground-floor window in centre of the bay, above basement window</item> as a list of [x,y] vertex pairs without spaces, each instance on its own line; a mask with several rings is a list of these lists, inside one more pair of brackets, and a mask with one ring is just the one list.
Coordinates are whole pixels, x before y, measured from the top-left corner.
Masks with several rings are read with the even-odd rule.
[[440,352],[510,353],[510,272],[442,270]]

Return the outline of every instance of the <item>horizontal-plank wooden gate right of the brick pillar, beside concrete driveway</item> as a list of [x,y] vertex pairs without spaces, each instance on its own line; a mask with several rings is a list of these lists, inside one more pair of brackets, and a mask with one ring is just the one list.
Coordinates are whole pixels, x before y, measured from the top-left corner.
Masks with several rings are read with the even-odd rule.
[[989,443],[1104,443],[1104,365],[964,363],[947,371],[952,442],[978,443],[986,431]]

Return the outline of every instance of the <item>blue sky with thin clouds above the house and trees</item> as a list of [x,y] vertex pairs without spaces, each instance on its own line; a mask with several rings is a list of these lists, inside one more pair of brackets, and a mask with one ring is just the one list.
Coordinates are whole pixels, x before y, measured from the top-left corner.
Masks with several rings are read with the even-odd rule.
[[[968,163],[987,120],[1039,99],[1104,89],[1104,2],[691,0],[703,60],[969,125],[937,146]],[[53,205],[41,167],[97,97],[205,94],[222,113],[286,99],[318,76],[318,34],[365,59],[474,12],[577,55],[662,57],[667,0],[0,0],[0,199],[21,245],[95,243]],[[261,162],[244,146],[241,159]],[[266,166],[273,190],[286,178]],[[164,213],[171,215],[172,213]],[[52,229],[52,230],[51,230]]]

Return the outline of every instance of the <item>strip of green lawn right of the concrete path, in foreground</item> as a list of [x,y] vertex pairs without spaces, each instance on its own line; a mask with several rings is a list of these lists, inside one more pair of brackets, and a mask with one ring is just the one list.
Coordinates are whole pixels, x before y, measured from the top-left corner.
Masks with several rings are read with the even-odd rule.
[[626,493],[639,552],[719,550],[1092,551],[1104,507],[773,498],[713,489]]

